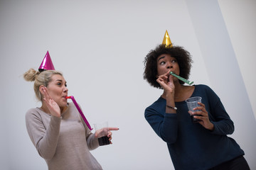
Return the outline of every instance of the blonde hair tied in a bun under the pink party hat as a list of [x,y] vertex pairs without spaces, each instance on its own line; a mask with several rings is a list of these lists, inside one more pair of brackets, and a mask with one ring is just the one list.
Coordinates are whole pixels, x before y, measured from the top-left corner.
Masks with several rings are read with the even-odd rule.
[[28,69],[28,71],[23,74],[23,78],[26,81],[35,81],[33,89],[35,91],[36,98],[38,101],[42,101],[42,95],[39,91],[39,87],[41,85],[47,87],[49,82],[52,81],[51,77],[53,77],[55,74],[63,76],[61,72],[56,70],[45,70],[43,72],[38,72],[35,69]]

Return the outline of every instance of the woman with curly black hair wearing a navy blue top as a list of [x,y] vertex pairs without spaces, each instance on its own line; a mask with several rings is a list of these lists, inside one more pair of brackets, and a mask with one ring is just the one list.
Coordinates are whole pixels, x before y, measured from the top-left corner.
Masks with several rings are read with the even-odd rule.
[[[183,47],[159,45],[144,60],[144,79],[163,94],[145,110],[154,132],[167,143],[175,169],[250,169],[230,135],[233,121],[220,98],[206,85],[185,86],[170,72],[188,79],[191,55]],[[201,96],[191,121],[186,99]]]

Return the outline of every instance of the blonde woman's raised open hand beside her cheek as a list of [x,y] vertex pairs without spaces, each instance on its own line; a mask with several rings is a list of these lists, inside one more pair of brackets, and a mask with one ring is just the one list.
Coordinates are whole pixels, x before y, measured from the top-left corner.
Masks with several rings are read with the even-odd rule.
[[42,87],[43,101],[45,101],[48,110],[50,111],[50,115],[60,118],[60,106],[51,98],[47,92],[45,86]]

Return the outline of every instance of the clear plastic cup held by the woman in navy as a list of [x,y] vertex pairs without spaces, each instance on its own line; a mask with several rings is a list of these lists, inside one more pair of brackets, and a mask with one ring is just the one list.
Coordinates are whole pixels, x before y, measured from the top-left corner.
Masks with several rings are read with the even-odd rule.
[[[193,123],[198,123],[199,121],[201,121],[199,119],[194,118],[193,117],[194,115],[191,114],[191,113],[195,113],[196,111],[200,111],[200,110],[195,110],[194,111],[193,108],[196,108],[196,107],[200,106],[200,105],[198,105],[198,102],[201,103],[201,100],[202,100],[202,98],[198,97],[198,96],[186,99],[186,103],[187,103],[187,106],[188,106],[188,113],[191,115],[191,120],[192,120]],[[201,116],[201,115],[196,115],[196,116]]]

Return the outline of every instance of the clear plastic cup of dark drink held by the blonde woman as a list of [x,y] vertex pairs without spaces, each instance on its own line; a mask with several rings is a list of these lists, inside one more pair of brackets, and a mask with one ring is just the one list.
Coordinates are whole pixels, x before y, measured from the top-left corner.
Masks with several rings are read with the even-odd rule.
[[109,145],[110,144],[110,140],[107,137],[108,132],[109,132],[109,128],[108,128],[108,123],[104,122],[104,123],[96,123],[94,124],[95,126],[95,131],[98,130],[99,135],[98,137],[98,141],[99,141],[99,145],[103,146],[103,145]]

